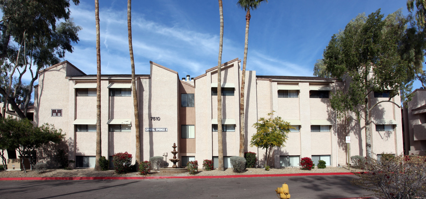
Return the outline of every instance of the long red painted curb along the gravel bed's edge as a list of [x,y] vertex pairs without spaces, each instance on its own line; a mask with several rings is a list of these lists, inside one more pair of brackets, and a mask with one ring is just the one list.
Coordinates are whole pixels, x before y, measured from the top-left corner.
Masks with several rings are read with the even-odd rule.
[[288,177],[288,176],[328,176],[354,175],[353,173],[304,173],[304,174],[256,174],[229,176],[147,176],[147,177],[17,177],[0,180],[88,180],[88,179],[212,179],[212,178],[249,178],[249,177]]

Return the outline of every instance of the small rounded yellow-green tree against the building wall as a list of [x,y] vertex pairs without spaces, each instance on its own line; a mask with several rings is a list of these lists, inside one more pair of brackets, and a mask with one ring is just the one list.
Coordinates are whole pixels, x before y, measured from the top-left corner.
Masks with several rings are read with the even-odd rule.
[[289,122],[283,121],[281,117],[273,118],[273,112],[268,113],[269,118],[260,118],[258,122],[253,124],[253,127],[256,128],[256,133],[250,140],[251,147],[256,146],[266,149],[266,165],[268,165],[272,147],[285,146],[284,143],[288,138],[288,132],[290,132],[290,129],[294,129]]

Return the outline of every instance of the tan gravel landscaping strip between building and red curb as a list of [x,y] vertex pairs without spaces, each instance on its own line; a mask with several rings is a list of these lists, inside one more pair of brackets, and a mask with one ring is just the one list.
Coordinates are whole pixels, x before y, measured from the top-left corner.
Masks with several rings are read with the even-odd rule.
[[[340,173],[340,172],[354,172],[360,170],[351,171],[347,167],[327,167],[327,168],[314,168],[311,171],[301,170],[297,168],[271,168],[266,171],[264,168],[247,168],[243,173],[234,173],[232,168],[227,168],[225,171],[218,171],[214,169],[212,171],[204,171],[199,169],[198,174],[191,175],[188,172],[180,174],[170,174],[151,170],[151,173],[146,176],[225,176],[225,175],[256,175],[256,174],[298,174],[298,173]],[[38,173],[37,171],[0,171],[1,177],[141,177],[137,172],[130,172],[127,174],[116,174],[114,170],[109,171],[94,171],[93,168],[76,168],[73,170],[64,170],[59,168],[47,169],[44,173]]]

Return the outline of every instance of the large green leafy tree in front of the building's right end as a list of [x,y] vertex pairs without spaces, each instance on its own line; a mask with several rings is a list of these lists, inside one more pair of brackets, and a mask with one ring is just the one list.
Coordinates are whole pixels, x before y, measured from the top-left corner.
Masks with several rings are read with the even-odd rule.
[[[324,50],[324,64],[331,76],[347,79],[347,91],[331,94],[331,107],[342,118],[347,111],[354,112],[358,120],[363,112],[366,131],[366,153],[371,157],[371,110],[378,104],[391,101],[401,93],[401,101],[410,100],[418,60],[413,45],[407,41],[409,19],[401,10],[385,19],[380,9],[368,17],[360,14],[334,34]],[[418,49],[417,49],[418,50]],[[412,52],[412,53],[410,53]],[[421,50],[419,51],[421,52]],[[416,61],[417,60],[417,61]],[[389,99],[372,102],[373,92],[389,92]]]

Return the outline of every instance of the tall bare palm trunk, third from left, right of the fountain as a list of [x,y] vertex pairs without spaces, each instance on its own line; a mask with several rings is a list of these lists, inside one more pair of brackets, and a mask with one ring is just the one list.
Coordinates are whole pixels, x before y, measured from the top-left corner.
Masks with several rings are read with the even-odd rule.
[[223,45],[223,9],[222,0],[219,0],[220,14],[220,39],[219,39],[219,57],[217,60],[217,140],[218,140],[218,170],[225,171],[223,160],[223,137],[222,137],[222,45]]

